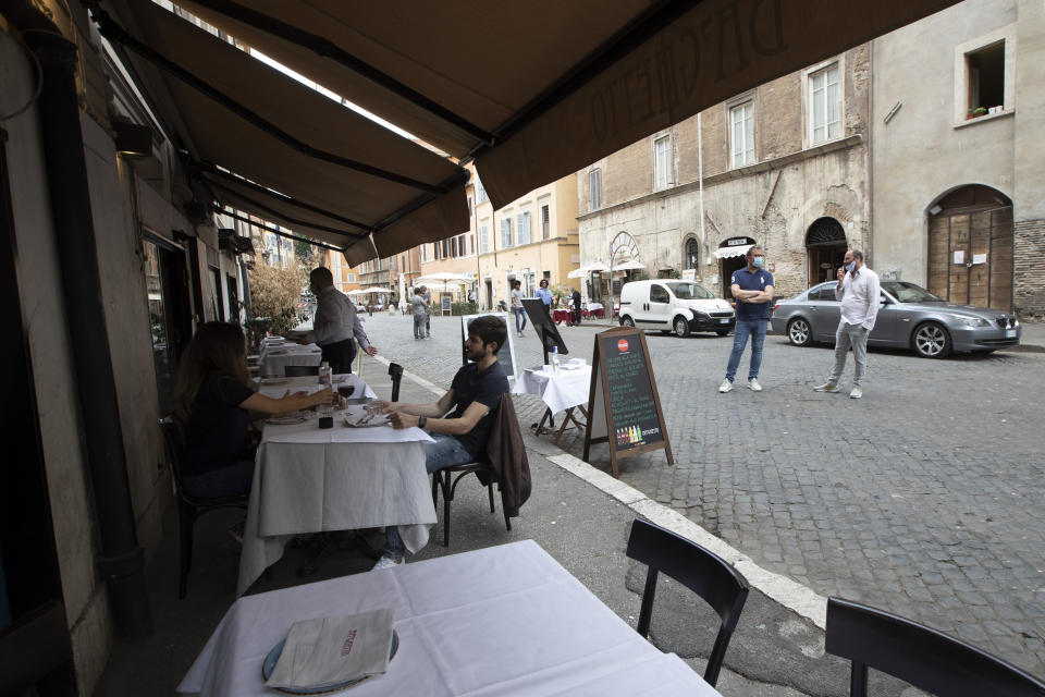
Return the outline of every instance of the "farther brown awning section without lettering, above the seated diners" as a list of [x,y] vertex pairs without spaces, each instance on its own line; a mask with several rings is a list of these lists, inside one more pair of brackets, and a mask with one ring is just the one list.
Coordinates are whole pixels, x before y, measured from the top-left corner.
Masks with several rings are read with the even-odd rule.
[[344,247],[351,264],[468,229],[464,169],[152,2],[128,8],[131,36],[205,84],[127,51],[219,203]]

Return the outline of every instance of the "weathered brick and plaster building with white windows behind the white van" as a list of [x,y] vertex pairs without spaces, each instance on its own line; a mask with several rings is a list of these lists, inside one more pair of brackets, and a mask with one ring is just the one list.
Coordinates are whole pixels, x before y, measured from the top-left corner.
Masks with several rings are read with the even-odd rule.
[[[869,242],[870,90],[862,45],[592,163],[578,172],[581,265],[634,267],[622,281],[681,271],[727,296],[758,244],[780,295],[823,280]],[[587,294],[611,292],[608,277]]]

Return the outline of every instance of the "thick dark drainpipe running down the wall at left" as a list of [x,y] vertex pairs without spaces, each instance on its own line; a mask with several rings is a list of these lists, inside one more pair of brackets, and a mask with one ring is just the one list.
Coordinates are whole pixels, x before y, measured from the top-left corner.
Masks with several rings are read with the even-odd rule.
[[57,32],[26,30],[39,58],[39,122],[62,293],[79,394],[79,417],[94,493],[97,564],[109,588],[116,632],[128,638],[152,633],[146,595],[145,554],[135,533],[126,452],[101,299],[98,250],[87,186],[87,162],[76,93],[76,45]]

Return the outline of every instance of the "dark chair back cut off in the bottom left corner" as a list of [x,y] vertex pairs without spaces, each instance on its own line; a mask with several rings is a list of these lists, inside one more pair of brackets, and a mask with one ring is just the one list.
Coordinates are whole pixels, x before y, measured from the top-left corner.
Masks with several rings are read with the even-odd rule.
[[57,600],[0,631],[0,695],[76,695],[73,643],[65,608]]

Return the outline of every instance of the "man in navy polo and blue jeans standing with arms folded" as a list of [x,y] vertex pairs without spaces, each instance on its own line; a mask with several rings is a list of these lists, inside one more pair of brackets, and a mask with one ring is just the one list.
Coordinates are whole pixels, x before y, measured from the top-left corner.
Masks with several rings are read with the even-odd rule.
[[733,273],[730,290],[737,302],[737,326],[734,329],[733,352],[726,366],[726,379],[718,386],[720,392],[733,389],[733,379],[740,366],[743,347],[751,338],[751,367],[748,368],[748,387],[761,392],[759,368],[762,367],[762,344],[765,342],[765,329],[770,321],[773,304],[773,274],[764,271],[765,255],[761,247],[751,247],[747,254],[748,266]]

